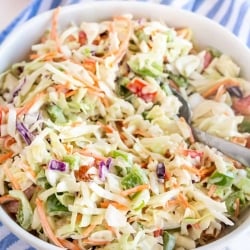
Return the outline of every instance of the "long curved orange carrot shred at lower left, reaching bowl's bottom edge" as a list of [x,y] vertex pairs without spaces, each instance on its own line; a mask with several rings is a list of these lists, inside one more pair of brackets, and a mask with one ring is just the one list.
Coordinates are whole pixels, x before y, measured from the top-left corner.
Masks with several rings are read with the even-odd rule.
[[59,247],[64,247],[62,245],[62,243],[60,242],[60,240],[55,236],[55,234],[54,234],[54,232],[49,224],[47,215],[46,215],[45,210],[44,210],[44,202],[42,200],[40,200],[39,198],[37,198],[36,199],[36,206],[37,206],[38,216],[40,218],[44,233],[48,236],[48,238],[51,240],[51,242],[53,242],[55,245],[57,245]]

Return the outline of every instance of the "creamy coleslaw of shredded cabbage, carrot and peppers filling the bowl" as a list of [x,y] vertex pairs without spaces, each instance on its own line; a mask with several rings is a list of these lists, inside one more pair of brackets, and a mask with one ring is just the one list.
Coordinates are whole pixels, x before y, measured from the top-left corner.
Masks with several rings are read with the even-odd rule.
[[0,75],[0,204],[68,249],[193,249],[233,226],[250,172],[192,123],[250,147],[250,83],[188,27],[116,16],[51,28]]

